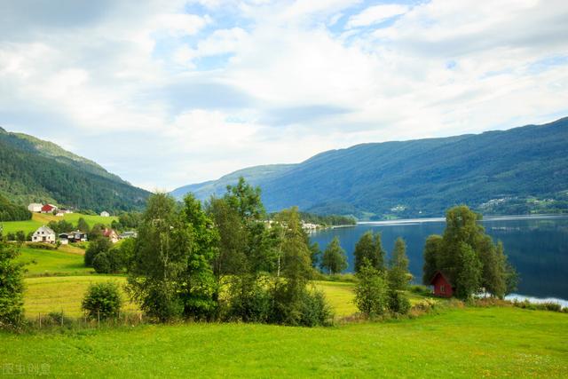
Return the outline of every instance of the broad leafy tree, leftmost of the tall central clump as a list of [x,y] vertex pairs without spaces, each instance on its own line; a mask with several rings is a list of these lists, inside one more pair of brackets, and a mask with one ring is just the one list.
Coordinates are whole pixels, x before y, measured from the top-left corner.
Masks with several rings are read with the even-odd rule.
[[191,236],[166,193],[148,198],[130,265],[127,290],[150,317],[176,319],[184,312],[179,296],[185,280]]

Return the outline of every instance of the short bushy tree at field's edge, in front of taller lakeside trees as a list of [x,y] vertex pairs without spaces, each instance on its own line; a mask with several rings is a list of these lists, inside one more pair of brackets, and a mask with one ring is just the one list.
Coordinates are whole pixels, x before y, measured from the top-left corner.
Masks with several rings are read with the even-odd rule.
[[388,286],[384,274],[364,258],[357,272],[354,303],[367,317],[383,314],[388,309]]

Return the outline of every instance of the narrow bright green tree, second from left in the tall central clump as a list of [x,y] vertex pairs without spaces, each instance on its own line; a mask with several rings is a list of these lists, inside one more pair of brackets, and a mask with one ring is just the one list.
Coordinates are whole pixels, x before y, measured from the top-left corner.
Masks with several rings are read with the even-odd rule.
[[218,255],[219,233],[193,194],[185,196],[184,205],[182,217],[192,241],[181,288],[184,313],[193,319],[210,320],[217,308],[218,288],[212,265]]

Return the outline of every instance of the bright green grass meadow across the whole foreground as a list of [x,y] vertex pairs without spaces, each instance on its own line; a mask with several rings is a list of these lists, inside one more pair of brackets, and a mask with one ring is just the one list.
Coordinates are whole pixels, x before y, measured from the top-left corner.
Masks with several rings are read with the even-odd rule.
[[87,377],[565,377],[568,315],[452,309],[415,320],[290,328],[188,324],[0,334],[0,365]]

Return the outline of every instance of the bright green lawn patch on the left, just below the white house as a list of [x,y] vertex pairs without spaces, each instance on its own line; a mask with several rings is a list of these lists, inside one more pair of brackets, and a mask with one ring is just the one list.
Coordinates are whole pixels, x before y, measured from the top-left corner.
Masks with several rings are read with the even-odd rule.
[[[78,249],[79,251],[82,251]],[[26,276],[39,275],[82,275],[93,272],[83,263],[83,255],[72,247],[59,247],[59,250],[21,248],[18,261],[26,262]]]

